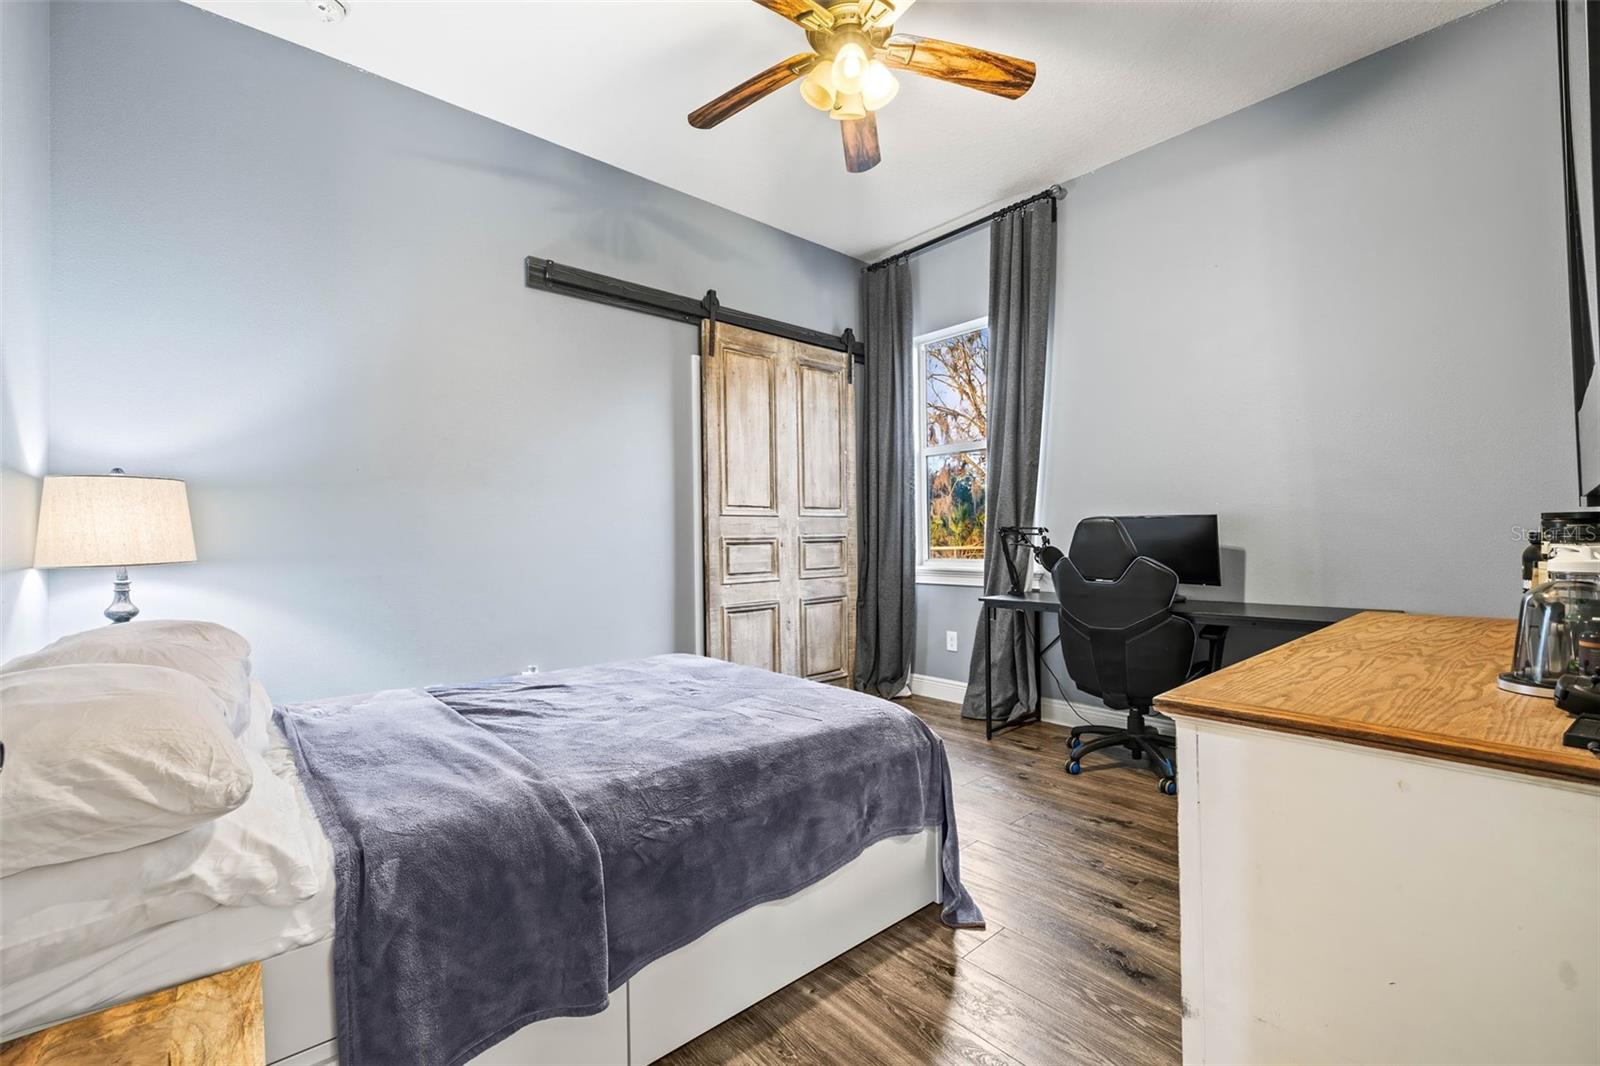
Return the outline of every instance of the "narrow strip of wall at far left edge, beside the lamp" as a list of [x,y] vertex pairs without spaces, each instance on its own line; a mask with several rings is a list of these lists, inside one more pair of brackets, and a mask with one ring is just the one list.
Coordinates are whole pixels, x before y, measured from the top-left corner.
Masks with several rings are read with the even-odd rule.
[[30,570],[45,472],[50,287],[50,6],[0,3],[0,659],[38,647]]

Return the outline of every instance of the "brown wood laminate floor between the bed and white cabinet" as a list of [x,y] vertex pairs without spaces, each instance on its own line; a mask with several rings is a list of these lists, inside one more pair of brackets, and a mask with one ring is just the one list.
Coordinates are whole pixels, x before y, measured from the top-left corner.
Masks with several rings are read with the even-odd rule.
[[1176,800],[1104,754],[1069,778],[1062,727],[984,741],[954,704],[904,703],[944,738],[989,927],[923,908],[662,1061],[1179,1061]]

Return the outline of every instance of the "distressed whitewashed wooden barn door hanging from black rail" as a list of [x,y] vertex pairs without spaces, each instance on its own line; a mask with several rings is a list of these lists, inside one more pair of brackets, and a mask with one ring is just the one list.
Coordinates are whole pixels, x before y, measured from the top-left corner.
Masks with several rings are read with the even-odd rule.
[[856,651],[850,357],[725,323],[707,323],[701,354],[706,655],[845,680]]

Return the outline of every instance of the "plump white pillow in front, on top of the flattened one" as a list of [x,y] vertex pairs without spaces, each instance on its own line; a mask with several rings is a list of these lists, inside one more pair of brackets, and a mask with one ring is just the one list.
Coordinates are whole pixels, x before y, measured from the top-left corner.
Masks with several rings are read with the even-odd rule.
[[216,695],[160,666],[0,674],[0,877],[192,829],[250,795]]

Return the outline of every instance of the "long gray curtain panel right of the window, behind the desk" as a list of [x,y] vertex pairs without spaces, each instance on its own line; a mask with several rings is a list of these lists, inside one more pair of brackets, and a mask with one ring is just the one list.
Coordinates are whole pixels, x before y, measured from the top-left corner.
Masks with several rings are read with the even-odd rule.
[[[1045,352],[1050,301],[1056,291],[1056,202],[1002,214],[989,227],[989,485],[984,512],[984,592],[1005,592],[1000,528],[1034,525],[1038,445],[1045,424]],[[1018,557],[1022,573],[1030,562]],[[1037,704],[1030,648],[1016,611],[997,611],[994,647],[982,611],[973,637],[962,714],[984,717],[984,675],[994,687],[995,715],[1010,719]]]

